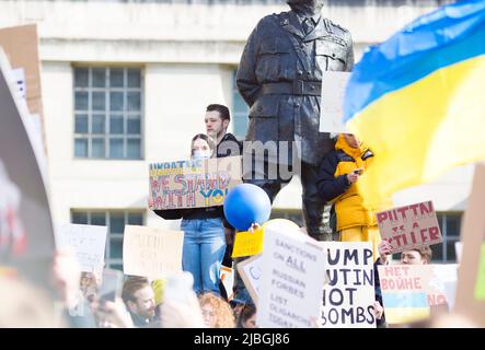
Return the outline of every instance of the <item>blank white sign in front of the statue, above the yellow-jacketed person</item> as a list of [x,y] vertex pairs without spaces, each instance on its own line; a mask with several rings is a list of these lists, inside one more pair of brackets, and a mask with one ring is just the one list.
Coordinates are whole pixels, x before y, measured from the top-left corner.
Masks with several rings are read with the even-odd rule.
[[348,132],[344,124],[344,97],[350,72],[323,72],[320,132]]

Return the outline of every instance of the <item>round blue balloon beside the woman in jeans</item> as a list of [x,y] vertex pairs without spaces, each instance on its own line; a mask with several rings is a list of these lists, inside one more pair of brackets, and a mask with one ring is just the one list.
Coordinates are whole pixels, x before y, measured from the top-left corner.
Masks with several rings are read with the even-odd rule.
[[256,185],[238,185],[226,196],[226,219],[240,231],[247,231],[253,223],[262,225],[269,219],[270,213],[269,197]]

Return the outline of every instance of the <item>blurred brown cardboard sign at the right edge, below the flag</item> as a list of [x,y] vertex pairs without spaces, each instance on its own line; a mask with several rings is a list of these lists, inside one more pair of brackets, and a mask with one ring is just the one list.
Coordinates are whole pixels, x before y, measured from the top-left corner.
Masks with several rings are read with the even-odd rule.
[[469,317],[478,327],[485,327],[485,302],[477,299],[477,283],[480,284],[480,270],[485,233],[485,164],[475,166],[472,191],[469,197],[467,208],[464,213],[461,231],[463,255],[458,271],[457,302],[454,311]]

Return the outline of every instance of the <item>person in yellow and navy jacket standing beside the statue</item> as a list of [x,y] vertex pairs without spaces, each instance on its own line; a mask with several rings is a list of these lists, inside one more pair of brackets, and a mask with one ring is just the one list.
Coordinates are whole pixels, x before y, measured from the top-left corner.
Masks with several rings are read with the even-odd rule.
[[357,182],[373,160],[373,153],[355,135],[340,133],[335,150],[320,166],[316,187],[324,200],[332,200],[342,242],[371,242],[374,260],[381,236],[376,214],[362,205]]

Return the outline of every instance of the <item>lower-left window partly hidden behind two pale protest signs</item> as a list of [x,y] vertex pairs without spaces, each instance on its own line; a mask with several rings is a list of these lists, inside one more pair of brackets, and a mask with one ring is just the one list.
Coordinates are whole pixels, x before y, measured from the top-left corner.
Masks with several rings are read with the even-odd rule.
[[71,211],[71,222],[86,225],[107,226],[105,262],[106,268],[123,271],[123,233],[125,225],[143,225],[145,211]]

